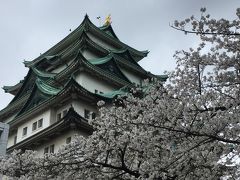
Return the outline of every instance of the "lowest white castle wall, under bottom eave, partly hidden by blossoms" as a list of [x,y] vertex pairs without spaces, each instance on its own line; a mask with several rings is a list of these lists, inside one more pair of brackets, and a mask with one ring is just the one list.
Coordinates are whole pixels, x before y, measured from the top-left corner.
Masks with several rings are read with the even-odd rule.
[[87,136],[87,134],[77,131],[77,130],[69,130],[63,134],[61,134],[60,136],[49,140],[48,142],[38,146],[36,149],[36,151],[38,151],[38,155],[39,156],[43,156],[44,154],[44,148],[45,147],[49,147],[50,145],[54,144],[54,152],[57,152],[59,150],[59,148],[61,148],[63,145],[66,145],[66,139],[68,137],[71,137],[72,140],[74,139],[74,137],[76,135],[82,135],[82,136]]

